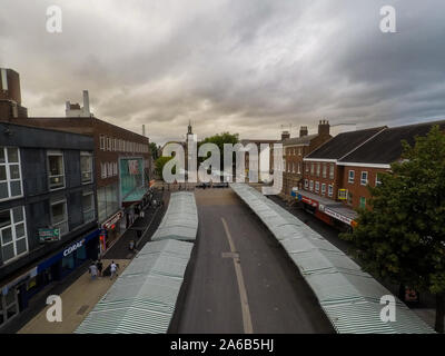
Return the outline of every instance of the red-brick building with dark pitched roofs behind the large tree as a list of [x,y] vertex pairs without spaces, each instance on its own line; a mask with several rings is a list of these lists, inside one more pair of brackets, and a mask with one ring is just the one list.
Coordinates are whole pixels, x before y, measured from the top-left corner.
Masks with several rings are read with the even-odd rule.
[[434,125],[445,130],[445,121],[437,121],[336,136],[305,157],[304,190],[299,191],[299,200],[307,210],[330,225],[354,226],[356,210],[369,208],[368,187],[379,185],[380,175],[400,159],[402,140],[414,145],[415,137],[426,136]]

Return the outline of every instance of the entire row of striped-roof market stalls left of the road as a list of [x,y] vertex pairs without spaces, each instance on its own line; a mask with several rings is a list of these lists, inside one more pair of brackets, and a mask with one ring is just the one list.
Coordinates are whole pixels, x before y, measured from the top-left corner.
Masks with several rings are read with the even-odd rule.
[[165,334],[198,230],[195,195],[174,192],[151,238],[77,328],[77,334]]

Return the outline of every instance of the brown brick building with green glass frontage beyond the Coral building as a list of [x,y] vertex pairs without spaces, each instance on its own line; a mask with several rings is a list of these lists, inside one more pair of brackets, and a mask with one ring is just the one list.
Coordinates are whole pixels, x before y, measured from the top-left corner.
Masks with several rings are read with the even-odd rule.
[[[20,97],[19,83],[17,87],[19,93],[13,91],[16,99]],[[11,106],[13,101],[7,103]],[[9,120],[92,137],[97,165],[98,219],[105,231],[101,236],[101,251],[105,253],[134,222],[135,211],[148,200],[151,161],[149,139],[97,119],[90,111],[86,90],[83,107],[67,101],[66,117],[28,117],[27,112],[22,113],[0,117],[0,121]]]

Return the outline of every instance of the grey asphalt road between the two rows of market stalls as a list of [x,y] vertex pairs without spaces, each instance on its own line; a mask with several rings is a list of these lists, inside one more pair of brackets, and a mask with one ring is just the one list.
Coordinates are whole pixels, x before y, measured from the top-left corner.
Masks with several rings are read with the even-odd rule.
[[274,236],[231,189],[196,190],[198,239],[177,333],[333,333]]

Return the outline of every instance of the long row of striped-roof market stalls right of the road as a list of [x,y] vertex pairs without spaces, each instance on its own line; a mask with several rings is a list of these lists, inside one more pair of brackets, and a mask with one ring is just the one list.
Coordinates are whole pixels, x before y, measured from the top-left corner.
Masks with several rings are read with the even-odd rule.
[[323,236],[253,187],[246,184],[230,187],[280,243],[337,333],[434,333],[396,297],[396,320],[385,323],[380,317],[385,305],[380,300],[392,296],[389,290]]

